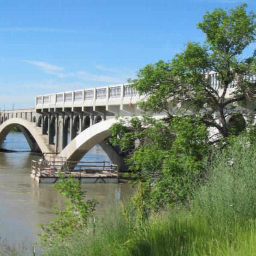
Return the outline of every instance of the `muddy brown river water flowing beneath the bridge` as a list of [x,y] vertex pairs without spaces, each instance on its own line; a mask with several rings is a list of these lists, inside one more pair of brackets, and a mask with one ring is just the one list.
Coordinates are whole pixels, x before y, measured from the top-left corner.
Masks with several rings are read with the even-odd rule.
[[[38,184],[30,178],[31,160],[42,156],[30,152],[24,135],[9,133],[3,149],[15,152],[0,152],[0,238],[9,244],[25,241],[31,244],[40,232],[39,222],[54,218],[53,207],[61,204],[63,198],[53,184]],[[109,161],[99,145],[91,149],[83,161]],[[87,198],[96,198],[99,205],[96,214],[102,212],[104,205],[113,198],[122,199],[131,195],[128,184],[83,184]]]

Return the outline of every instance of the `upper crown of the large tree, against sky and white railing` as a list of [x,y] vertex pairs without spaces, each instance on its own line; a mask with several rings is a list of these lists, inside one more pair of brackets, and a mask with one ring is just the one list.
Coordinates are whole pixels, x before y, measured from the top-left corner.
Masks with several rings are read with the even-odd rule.
[[[256,73],[255,55],[241,58],[244,49],[255,41],[256,15],[246,12],[246,4],[230,10],[215,8],[206,12],[198,29],[206,36],[204,45],[188,42],[183,52],[173,60],[160,60],[146,65],[131,80],[140,95],[139,103],[147,113],[194,114],[217,129],[222,137],[230,134],[228,115],[244,112],[237,105],[255,102],[256,81],[244,79]],[[218,73],[218,89],[209,83],[210,71]],[[235,81],[235,85],[234,85]],[[232,93],[229,97],[229,89]],[[216,120],[216,117],[219,121]]]

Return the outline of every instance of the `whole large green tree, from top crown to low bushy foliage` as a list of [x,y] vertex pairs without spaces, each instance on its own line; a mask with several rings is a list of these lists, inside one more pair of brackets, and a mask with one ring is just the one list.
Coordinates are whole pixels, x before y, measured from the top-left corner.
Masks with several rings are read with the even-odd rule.
[[[256,81],[246,79],[255,74],[255,56],[241,59],[256,33],[256,15],[246,7],[206,12],[197,24],[206,35],[203,45],[188,42],[173,60],[146,65],[130,81],[140,95],[146,95],[138,103],[144,116],[120,118],[111,128],[111,142],[129,151],[127,163],[144,181],[144,200],[150,206],[188,202],[204,177],[212,150],[208,127],[222,138],[244,129],[244,123],[228,124],[226,117],[241,116],[237,105],[255,100]],[[219,88],[209,83],[211,71],[218,74]],[[165,113],[165,118],[149,118],[153,113]],[[216,143],[219,137],[213,140]]]

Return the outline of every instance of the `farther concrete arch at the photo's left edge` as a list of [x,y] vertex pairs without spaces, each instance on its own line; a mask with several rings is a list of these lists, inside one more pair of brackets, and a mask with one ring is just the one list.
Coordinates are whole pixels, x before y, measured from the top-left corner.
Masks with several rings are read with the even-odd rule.
[[[42,152],[45,152],[45,153],[50,152],[48,147],[44,143],[42,137],[36,131],[36,127],[33,125],[33,123],[21,118],[8,119],[2,125],[0,125],[0,147],[3,141],[5,140],[6,136],[8,135],[8,133],[16,125],[22,128],[21,130],[23,131],[29,144],[30,142],[32,142],[32,140],[34,140]],[[30,148],[31,148],[31,145],[30,145]],[[31,150],[33,149],[31,148]]]

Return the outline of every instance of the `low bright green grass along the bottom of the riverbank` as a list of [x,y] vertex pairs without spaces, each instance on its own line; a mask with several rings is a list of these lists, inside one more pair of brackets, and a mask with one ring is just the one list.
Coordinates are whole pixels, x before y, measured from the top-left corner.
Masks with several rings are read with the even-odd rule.
[[152,217],[141,232],[130,232],[118,207],[96,223],[96,232],[73,234],[69,243],[56,243],[47,256],[205,256],[255,255],[256,223],[207,223],[190,212],[163,212]]

